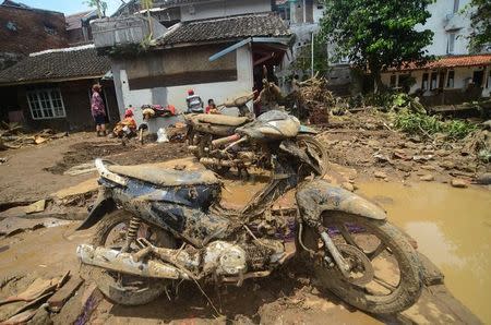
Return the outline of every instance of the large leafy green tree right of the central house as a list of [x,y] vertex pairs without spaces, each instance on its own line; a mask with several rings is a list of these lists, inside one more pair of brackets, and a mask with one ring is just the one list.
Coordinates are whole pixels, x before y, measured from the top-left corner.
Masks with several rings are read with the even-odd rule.
[[335,55],[350,62],[382,88],[381,72],[412,61],[422,64],[428,58],[423,48],[433,33],[416,31],[430,17],[427,8],[433,0],[324,0],[321,20],[323,37],[336,45]]

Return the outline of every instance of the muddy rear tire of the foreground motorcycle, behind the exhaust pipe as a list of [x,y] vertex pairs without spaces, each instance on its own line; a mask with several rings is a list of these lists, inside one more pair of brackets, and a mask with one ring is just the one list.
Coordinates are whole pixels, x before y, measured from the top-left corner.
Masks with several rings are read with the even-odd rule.
[[[106,239],[110,231],[122,222],[128,225],[131,217],[132,215],[125,210],[115,210],[106,215],[99,224],[97,224],[96,232],[92,238],[92,244],[95,246],[105,246]],[[165,236],[159,236],[156,244],[167,248],[176,246],[176,241],[172,237],[163,230],[158,231],[161,231]],[[135,277],[141,279],[143,282],[146,282],[147,287],[143,287],[137,290],[125,290],[117,285],[111,272],[85,264],[82,264],[82,267],[83,274],[86,274],[88,279],[93,279],[96,282],[98,289],[106,298],[121,305],[146,304],[161,296],[161,293],[166,290],[166,287],[171,282],[170,280]]]

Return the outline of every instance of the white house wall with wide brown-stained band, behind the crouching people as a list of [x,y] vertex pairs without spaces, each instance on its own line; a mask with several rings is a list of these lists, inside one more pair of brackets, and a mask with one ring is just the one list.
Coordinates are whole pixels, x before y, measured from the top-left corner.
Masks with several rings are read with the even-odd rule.
[[[221,45],[216,48],[216,51],[225,48],[226,45]],[[196,51],[196,47],[185,48],[187,51]],[[214,49],[215,50],[215,49]],[[200,95],[204,103],[208,98],[215,99],[215,103],[219,104],[229,98],[242,96],[252,92],[253,77],[252,77],[252,53],[249,46],[243,46],[238,50],[230,52],[226,57],[223,57],[215,62],[207,62],[209,53],[212,51],[205,50],[197,56],[200,59],[197,62],[202,62],[202,67],[195,64],[196,62],[190,62],[187,60],[188,56],[178,57],[172,62],[166,62],[165,60],[156,60],[154,62],[146,62],[145,64],[156,64],[153,69],[144,68],[139,74],[136,74],[136,68],[139,63],[133,62],[131,59],[112,61],[112,73],[115,80],[115,87],[118,97],[118,105],[120,113],[123,113],[124,109],[130,105],[135,108],[135,118],[139,123],[142,122],[142,115],[140,107],[147,104],[159,105],[173,105],[179,112],[187,110],[185,97],[188,96],[188,89],[194,89],[195,94]],[[214,53],[214,52],[213,52]],[[207,62],[207,63],[206,63]],[[172,67],[165,67],[166,64]],[[220,73],[213,72],[217,69],[224,74],[232,71],[235,67],[236,77],[227,75],[220,75]],[[164,83],[159,83],[158,77],[155,84],[147,84],[145,88],[134,89],[131,86],[131,75],[133,77],[142,77],[146,71],[147,74],[155,73],[155,71],[182,71],[179,75],[193,74],[200,69],[203,73],[206,71],[212,72],[208,77],[215,77],[215,81],[202,82],[199,80],[190,79],[185,84],[166,86],[166,80]],[[212,79],[213,80],[213,79]],[[226,111],[229,113],[236,113],[236,110]],[[166,124],[175,123],[176,119],[166,120]]]

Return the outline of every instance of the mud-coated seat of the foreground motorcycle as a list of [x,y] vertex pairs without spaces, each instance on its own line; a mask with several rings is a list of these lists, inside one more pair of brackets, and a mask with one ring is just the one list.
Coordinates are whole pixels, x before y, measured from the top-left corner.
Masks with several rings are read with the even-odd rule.
[[113,173],[153,183],[159,186],[217,184],[220,181],[209,170],[175,170],[154,166],[109,165]]

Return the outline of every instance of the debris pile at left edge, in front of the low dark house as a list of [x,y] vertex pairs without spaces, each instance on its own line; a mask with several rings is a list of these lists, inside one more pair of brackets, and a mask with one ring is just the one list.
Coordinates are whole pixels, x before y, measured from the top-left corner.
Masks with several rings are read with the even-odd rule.
[[17,123],[1,123],[0,151],[17,149],[28,145],[38,145],[50,140],[68,136],[68,132],[56,133],[51,129],[45,129],[35,134],[23,133],[22,125]]

